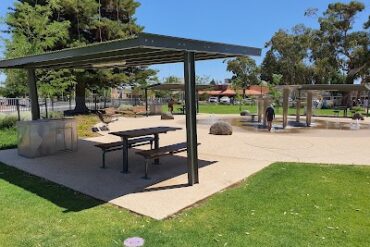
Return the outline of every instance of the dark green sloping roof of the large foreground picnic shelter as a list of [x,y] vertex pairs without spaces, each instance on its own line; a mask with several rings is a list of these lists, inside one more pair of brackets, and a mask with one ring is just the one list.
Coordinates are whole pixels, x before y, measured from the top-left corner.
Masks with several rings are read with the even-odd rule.
[[[0,61],[0,68],[57,69],[147,66],[183,62],[184,51],[194,52],[198,61],[261,55],[259,48],[142,33],[135,38],[126,40],[3,60]],[[117,65],[115,66],[114,63]]]

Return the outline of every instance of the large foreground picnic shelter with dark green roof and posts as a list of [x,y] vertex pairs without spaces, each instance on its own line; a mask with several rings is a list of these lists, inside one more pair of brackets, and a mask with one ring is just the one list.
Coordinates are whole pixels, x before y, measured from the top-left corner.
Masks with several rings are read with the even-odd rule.
[[196,130],[195,61],[260,56],[261,49],[141,33],[129,39],[0,61],[0,69],[27,69],[32,120],[40,118],[36,69],[103,69],[184,63],[187,164],[190,185],[199,183]]

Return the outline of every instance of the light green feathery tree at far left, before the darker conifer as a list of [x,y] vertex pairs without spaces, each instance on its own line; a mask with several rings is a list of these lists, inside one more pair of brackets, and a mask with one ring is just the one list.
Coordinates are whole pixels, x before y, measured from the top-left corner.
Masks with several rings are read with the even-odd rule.
[[[5,39],[5,57],[14,58],[38,54],[64,46],[68,40],[68,21],[54,21],[48,6],[32,6],[27,2],[16,2],[12,12],[7,15],[5,32],[11,39]],[[5,72],[5,92],[16,97],[26,93],[26,75],[23,70]],[[38,73],[40,75],[40,73]],[[63,85],[60,85],[63,87]]]

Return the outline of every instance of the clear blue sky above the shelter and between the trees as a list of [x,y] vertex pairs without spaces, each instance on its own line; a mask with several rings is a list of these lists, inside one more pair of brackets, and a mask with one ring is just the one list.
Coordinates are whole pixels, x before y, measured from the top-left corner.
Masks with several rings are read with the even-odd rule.
[[[137,20],[146,32],[219,41],[263,48],[266,41],[280,28],[289,29],[303,23],[317,27],[315,18],[304,16],[307,8],[320,12],[333,1],[328,0],[139,0]],[[341,1],[349,2],[349,1]],[[366,1],[364,1],[366,2]],[[1,0],[0,16],[14,0]],[[370,13],[370,6],[356,20],[361,26]],[[1,46],[0,46],[0,57]],[[258,63],[261,58],[256,58]],[[230,75],[222,61],[197,63],[197,74],[223,80]],[[182,65],[161,65],[159,76],[182,76]],[[0,78],[1,81],[1,78]]]

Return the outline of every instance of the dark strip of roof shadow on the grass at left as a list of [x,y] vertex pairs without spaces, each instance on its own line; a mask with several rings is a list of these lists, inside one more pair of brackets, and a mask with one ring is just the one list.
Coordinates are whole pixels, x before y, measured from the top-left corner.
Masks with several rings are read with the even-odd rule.
[[79,212],[104,204],[103,201],[75,192],[29,173],[0,163],[0,180],[23,188],[64,209],[63,212]]

